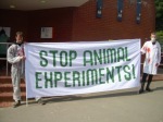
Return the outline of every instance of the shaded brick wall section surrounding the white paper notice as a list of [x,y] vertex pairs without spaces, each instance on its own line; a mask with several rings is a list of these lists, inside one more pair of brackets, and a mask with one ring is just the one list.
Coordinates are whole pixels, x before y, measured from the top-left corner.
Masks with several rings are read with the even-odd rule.
[[[28,12],[30,41],[68,41],[72,39],[74,8],[49,9]],[[52,39],[41,39],[41,27],[53,27]]]

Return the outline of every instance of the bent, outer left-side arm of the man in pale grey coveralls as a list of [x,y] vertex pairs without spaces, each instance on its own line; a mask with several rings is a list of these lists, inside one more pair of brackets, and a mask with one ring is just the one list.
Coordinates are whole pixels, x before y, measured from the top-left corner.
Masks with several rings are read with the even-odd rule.
[[23,57],[15,56],[15,51],[16,51],[15,48],[16,47],[14,45],[12,45],[8,49],[7,59],[8,59],[8,62],[10,62],[11,64],[17,63],[17,62],[20,62],[23,59]]

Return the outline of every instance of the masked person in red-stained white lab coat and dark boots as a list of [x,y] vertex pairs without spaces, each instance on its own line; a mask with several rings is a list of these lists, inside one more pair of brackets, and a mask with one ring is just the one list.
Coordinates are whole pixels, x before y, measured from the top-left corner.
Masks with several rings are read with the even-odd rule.
[[141,88],[139,89],[139,94],[143,93],[145,83],[147,81],[147,91],[152,91],[150,89],[150,84],[152,82],[153,75],[158,72],[158,66],[161,62],[161,46],[156,41],[155,33],[151,33],[151,40],[146,41],[141,48],[141,53],[146,54],[145,63],[143,63],[143,74],[141,80]]

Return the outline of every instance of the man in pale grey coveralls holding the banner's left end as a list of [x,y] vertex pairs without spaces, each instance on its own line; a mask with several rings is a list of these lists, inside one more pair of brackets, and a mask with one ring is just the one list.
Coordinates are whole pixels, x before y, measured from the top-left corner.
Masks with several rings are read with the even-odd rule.
[[[13,107],[21,106],[21,78],[25,77],[25,56],[24,56],[24,45],[23,45],[23,33],[16,32],[16,41],[11,45],[8,49],[8,62],[12,64],[11,66],[11,78],[13,85],[13,99],[15,100]],[[45,105],[40,97],[36,98],[37,102]]]

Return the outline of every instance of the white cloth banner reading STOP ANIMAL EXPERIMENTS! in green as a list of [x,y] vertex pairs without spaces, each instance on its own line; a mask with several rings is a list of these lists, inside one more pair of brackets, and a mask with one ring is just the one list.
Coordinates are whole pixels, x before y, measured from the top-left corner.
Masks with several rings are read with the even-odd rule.
[[140,39],[25,45],[26,97],[139,86]]

